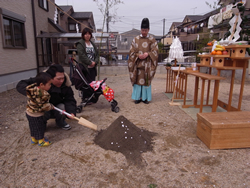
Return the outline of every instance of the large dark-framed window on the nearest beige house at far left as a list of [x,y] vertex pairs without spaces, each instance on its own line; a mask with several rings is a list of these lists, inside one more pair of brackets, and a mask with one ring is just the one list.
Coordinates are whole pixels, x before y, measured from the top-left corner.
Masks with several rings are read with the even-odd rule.
[[26,48],[25,17],[0,8],[4,48]]

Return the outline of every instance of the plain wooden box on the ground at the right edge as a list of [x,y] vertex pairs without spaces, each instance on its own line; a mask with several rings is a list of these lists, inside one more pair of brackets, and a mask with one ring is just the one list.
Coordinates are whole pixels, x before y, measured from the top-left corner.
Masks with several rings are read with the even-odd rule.
[[209,149],[250,147],[250,112],[198,113],[196,135]]

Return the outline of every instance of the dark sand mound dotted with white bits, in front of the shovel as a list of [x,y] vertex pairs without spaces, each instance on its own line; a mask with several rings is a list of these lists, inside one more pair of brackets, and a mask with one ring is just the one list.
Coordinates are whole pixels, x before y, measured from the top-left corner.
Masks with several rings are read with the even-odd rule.
[[142,166],[141,153],[153,150],[152,138],[155,135],[119,116],[107,129],[98,133],[94,142],[103,149],[122,153],[129,163]]

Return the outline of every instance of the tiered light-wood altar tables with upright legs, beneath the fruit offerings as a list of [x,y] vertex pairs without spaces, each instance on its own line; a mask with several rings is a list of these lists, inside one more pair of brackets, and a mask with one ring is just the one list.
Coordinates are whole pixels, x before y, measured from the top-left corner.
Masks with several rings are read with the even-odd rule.
[[[209,71],[208,74],[205,73],[197,73],[192,71],[180,71],[180,76],[178,80],[178,84],[176,87],[176,94],[174,99],[183,99],[183,108],[194,106],[196,108],[200,108],[200,112],[202,112],[203,99],[204,99],[204,88],[205,88],[205,81],[207,80],[207,100],[206,106],[212,106],[212,112],[216,112],[217,106],[222,107],[227,111],[240,111],[241,110],[241,103],[243,97],[243,89],[246,77],[246,69],[248,68],[248,60],[250,57],[245,57],[246,48],[250,48],[250,45],[229,45],[224,46],[228,51],[228,55],[211,55],[211,54],[202,54],[198,55],[201,58],[201,63],[197,63],[196,66],[198,67],[198,72],[200,72],[200,67],[208,67]],[[212,49],[209,47],[208,49]],[[212,75],[212,68],[217,69],[217,75]],[[177,75],[177,71],[171,70],[171,68],[167,69],[167,84],[166,84],[166,93],[172,93],[174,89],[174,81]],[[235,72],[237,69],[242,70],[242,78],[241,78],[241,87],[239,92],[239,99],[238,99],[238,107],[232,106],[232,98],[233,98],[233,87],[235,81]],[[221,76],[221,71],[232,71],[231,74],[231,83],[230,83],[230,91],[229,91],[229,98],[228,102],[223,102],[218,99],[218,92],[219,92],[219,81],[224,79]],[[195,91],[194,91],[194,101],[192,105],[186,105],[186,92],[187,92],[187,76],[193,75],[195,76]],[[202,89],[200,95],[200,105],[197,105],[198,100],[198,87],[199,87],[199,78],[202,80]],[[214,92],[213,92],[213,103],[209,105],[209,92],[210,92],[210,83],[214,80]]]

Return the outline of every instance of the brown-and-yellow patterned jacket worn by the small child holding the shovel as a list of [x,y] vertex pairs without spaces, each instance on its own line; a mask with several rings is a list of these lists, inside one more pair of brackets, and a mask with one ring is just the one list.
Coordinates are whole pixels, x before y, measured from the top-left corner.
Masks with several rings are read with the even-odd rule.
[[28,97],[26,112],[31,116],[43,115],[45,111],[53,109],[53,105],[49,103],[50,94],[39,89],[36,83],[26,87]]

